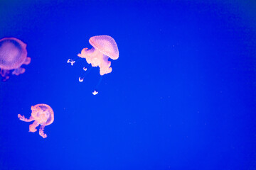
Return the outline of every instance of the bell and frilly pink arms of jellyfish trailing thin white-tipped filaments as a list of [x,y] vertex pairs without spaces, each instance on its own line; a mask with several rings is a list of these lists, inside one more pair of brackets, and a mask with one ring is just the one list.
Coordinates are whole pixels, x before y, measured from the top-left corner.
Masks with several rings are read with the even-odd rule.
[[85,58],[88,64],[92,64],[92,67],[100,67],[100,75],[112,72],[108,58],[117,60],[119,57],[117,43],[114,39],[108,35],[99,35],[90,38],[89,42],[92,49],[82,49],[78,57]]

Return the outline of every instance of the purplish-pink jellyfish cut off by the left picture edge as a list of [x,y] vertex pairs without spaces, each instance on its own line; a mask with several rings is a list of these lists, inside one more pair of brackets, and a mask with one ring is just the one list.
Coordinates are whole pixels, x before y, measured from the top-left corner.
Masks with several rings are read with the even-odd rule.
[[0,40],[0,74],[4,80],[9,79],[11,69],[12,74],[18,76],[25,72],[21,68],[22,64],[29,64],[31,58],[27,57],[26,44],[17,38],[2,38]]

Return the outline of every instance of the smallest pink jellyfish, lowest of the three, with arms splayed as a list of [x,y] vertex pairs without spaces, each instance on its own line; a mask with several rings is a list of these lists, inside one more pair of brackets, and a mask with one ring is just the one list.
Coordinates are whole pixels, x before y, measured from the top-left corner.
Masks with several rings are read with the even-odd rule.
[[53,109],[50,108],[47,104],[37,104],[35,106],[31,106],[31,117],[29,119],[25,118],[23,115],[18,114],[18,118],[24,122],[33,122],[33,124],[29,125],[28,132],[36,132],[36,127],[41,125],[39,129],[39,135],[41,137],[46,138],[47,135],[43,132],[46,125],[50,125],[53,123],[54,115]]

